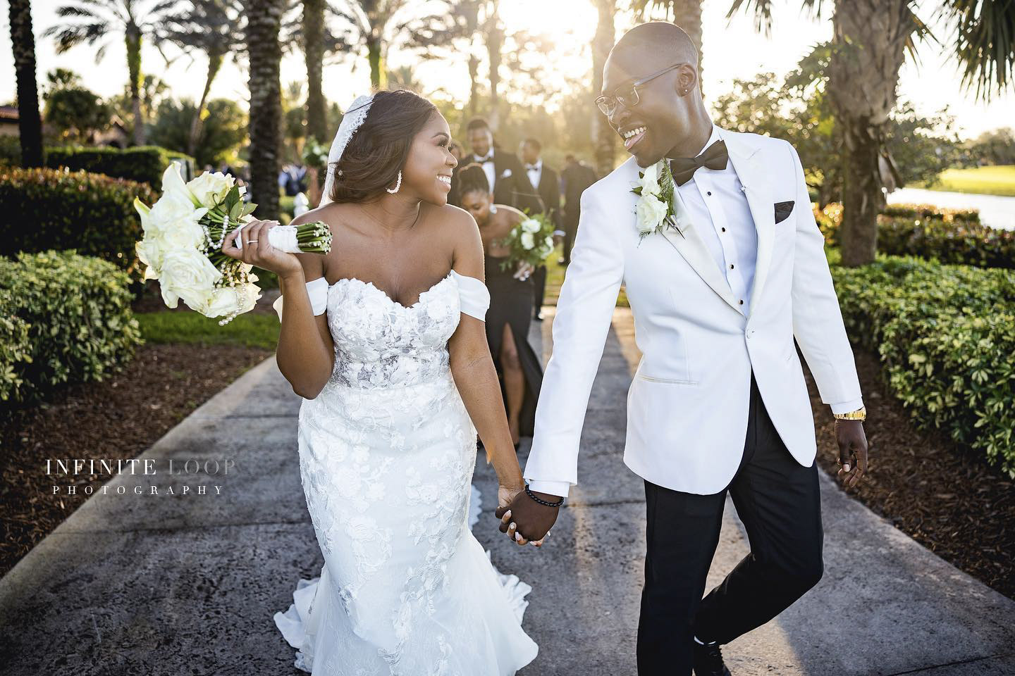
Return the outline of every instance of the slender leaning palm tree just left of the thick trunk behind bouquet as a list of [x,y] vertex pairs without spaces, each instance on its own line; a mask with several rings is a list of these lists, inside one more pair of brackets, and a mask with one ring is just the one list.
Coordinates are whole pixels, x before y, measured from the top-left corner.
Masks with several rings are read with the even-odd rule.
[[245,48],[244,6],[240,0],[163,0],[153,11],[161,16],[158,28],[161,40],[178,45],[192,58],[198,52],[208,59],[204,89],[187,142],[187,153],[194,155],[208,116],[211,84],[229,55]]

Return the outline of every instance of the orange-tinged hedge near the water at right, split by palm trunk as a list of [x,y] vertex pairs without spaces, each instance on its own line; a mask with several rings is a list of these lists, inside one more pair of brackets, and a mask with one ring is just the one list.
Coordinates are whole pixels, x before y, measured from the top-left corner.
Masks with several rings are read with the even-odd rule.
[[[878,216],[878,251],[913,255],[944,264],[1015,269],[1015,232],[979,222],[975,211],[924,205],[890,205]],[[841,207],[815,210],[818,227],[831,246],[838,246]]]

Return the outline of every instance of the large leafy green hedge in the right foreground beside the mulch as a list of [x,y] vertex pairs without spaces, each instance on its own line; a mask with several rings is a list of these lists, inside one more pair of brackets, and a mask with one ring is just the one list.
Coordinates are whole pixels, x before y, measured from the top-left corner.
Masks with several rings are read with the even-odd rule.
[[880,354],[918,426],[1015,478],[1015,273],[883,256],[832,276],[851,340]]

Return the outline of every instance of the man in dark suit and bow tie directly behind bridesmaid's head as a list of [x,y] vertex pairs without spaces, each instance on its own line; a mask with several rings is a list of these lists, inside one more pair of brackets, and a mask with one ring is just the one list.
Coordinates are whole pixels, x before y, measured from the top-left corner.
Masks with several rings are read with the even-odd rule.
[[530,214],[543,211],[543,201],[535,189],[529,183],[518,155],[501,150],[493,141],[490,126],[482,118],[471,120],[466,126],[466,142],[472,151],[462,158],[451,178],[451,193],[448,202],[456,207],[462,206],[458,193],[458,170],[473,162],[480,164],[486,172],[486,179],[493,193],[493,201],[505,204]]

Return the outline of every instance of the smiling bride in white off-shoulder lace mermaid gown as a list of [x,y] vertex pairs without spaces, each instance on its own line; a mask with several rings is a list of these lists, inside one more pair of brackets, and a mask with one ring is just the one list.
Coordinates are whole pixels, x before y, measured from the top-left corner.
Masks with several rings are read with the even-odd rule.
[[275,619],[315,675],[502,676],[538,650],[521,626],[528,585],[469,530],[477,431],[498,505],[525,483],[486,343],[479,230],[447,204],[450,142],[425,98],[360,96],[321,205],[293,221],[327,223],[331,252],[273,248],[276,221],[223,241],[284,297],[276,359],[303,398],[300,478],[325,565]]

